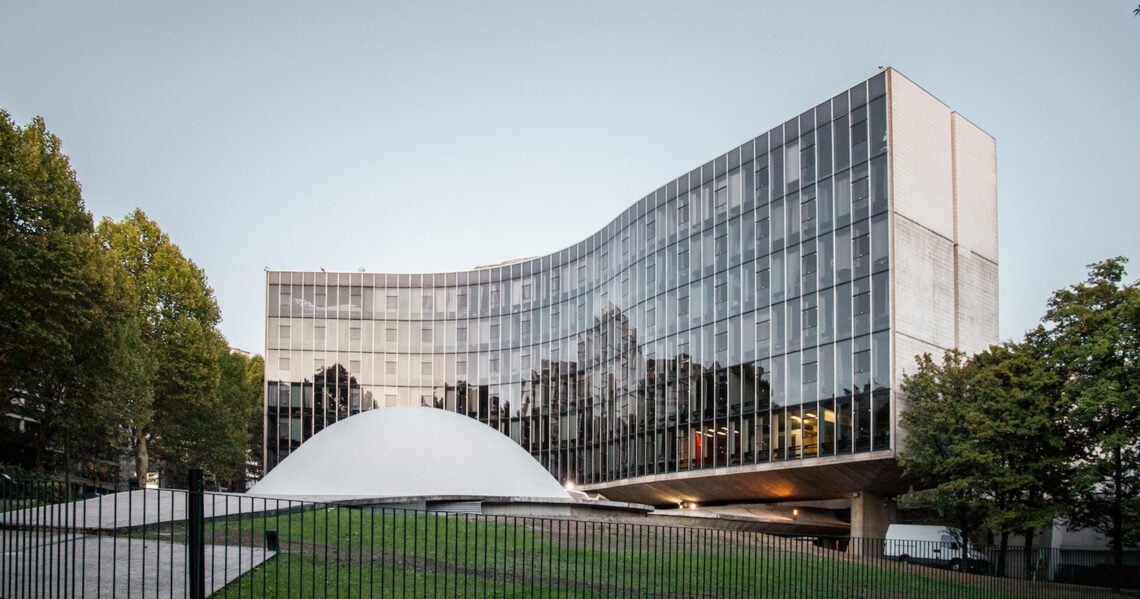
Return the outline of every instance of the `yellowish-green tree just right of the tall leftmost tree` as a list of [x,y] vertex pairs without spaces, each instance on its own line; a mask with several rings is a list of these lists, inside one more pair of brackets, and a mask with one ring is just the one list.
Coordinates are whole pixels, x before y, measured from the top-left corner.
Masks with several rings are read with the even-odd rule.
[[153,419],[137,422],[133,431],[139,480],[152,453],[163,461],[168,480],[184,478],[190,467],[209,469],[223,341],[205,273],[141,210],[121,222],[103,219],[96,236],[130,275],[141,345],[154,359],[142,390],[153,396]]

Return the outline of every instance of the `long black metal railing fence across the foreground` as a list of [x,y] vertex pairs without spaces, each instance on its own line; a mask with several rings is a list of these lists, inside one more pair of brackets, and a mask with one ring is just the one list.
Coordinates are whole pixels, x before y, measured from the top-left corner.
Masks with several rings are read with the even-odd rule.
[[882,540],[653,517],[429,513],[199,486],[70,499],[58,484],[0,485],[0,597],[1070,598],[1107,590],[1067,583],[1112,580],[1104,552],[1045,551],[1032,572],[1011,553],[997,577],[990,550],[953,570],[933,558],[939,544],[901,560]]

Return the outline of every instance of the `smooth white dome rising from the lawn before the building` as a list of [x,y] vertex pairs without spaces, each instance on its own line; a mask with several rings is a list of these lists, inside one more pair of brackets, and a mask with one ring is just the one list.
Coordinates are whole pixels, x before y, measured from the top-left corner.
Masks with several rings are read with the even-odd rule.
[[542,464],[502,432],[454,412],[414,406],[341,420],[304,442],[249,493],[569,499]]

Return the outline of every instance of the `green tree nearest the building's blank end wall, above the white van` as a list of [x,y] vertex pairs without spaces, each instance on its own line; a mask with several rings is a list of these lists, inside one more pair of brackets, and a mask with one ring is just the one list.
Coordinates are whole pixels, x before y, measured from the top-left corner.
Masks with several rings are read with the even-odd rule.
[[990,513],[990,499],[978,485],[988,456],[975,442],[977,405],[971,397],[970,372],[961,351],[946,351],[942,363],[929,354],[915,358],[918,370],[903,377],[907,407],[902,424],[907,430],[898,454],[904,476],[920,489],[912,494],[956,526],[963,535],[958,565],[969,564],[967,544]]

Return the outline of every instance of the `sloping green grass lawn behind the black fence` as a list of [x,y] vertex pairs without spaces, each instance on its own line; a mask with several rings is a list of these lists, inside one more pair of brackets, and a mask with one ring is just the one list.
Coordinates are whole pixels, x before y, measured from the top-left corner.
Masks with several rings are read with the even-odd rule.
[[[207,523],[280,552],[233,597],[1023,597],[995,578],[860,560],[744,532],[319,509]],[[1028,597],[1028,594],[1024,596]]]

